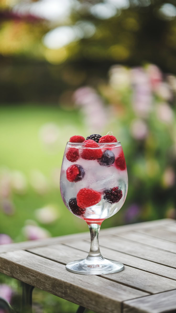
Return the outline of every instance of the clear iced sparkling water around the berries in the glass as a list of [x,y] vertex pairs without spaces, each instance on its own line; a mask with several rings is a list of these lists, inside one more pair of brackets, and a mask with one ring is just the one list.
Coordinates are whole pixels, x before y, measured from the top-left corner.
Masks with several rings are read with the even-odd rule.
[[[79,154],[79,158],[76,162],[70,162],[67,160],[66,153],[68,149],[75,148]],[[61,196],[66,207],[72,212],[69,207],[69,200],[71,198],[77,198],[77,193],[82,188],[93,189],[101,193],[101,200],[99,203],[86,207],[85,212],[78,216],[88,223],[99,223],[105,218],[117,213],[125,202],[127,190],[128,190],[128,175],[126,166],[120,169],[116,162],[111,166],[100,165],[98,160],[85,160],[82,158],[83,149],[101,149],[102,152],[110,150],[115,155],[115,160],[119,156],[123,156],[123,150],[120,142],[99,144],[99,148],[87,148],[83,143],[67,143],[63,162],[61,167],[60,188]],[[85,171],[85,175],[82,180],[77,182],[70,182],[67,179],[67,168],[71,165],[80,165]],[[105,191],[111,190],[114,187],[118,187],[122,191],[122,198],[116,203],[109,203],[104,199]]]

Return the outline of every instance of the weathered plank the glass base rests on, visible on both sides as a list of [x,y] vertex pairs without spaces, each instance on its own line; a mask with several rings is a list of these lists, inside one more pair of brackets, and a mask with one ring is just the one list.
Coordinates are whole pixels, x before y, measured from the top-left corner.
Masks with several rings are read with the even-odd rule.
[[[77,259],[83,259],[87,256],[87,253],[63,244],[56,244],[52,247],[33,248],[28,251],[53,261],[62,262],[63,264]],[[154,275],[130,266],[125,266],[125,270],[119,273],[100,276],[149,293],[176,289],[176,280]]]

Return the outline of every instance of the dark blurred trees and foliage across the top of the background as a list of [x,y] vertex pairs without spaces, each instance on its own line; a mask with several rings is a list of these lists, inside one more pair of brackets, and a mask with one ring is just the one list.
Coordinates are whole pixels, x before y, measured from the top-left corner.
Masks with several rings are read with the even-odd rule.
[[[39,8],[35,12],[37,3],[42,5],[42,1],[1,1],[2,102],[57,102],[67,88],[94,85],[99,77],[107,80],[107,70],[114,63],[152,62],[164,72],[176,73],[173,0],[124,0],[121,6],[115,0],[67,1],[68,13],[55,19],[42,18]],[[102,17],[104,10],[110,17]],[[69,31],[65,38],[72,32],[70,42],[57,46],[59,30]],[[56,40],[50,42],[52,36]]]

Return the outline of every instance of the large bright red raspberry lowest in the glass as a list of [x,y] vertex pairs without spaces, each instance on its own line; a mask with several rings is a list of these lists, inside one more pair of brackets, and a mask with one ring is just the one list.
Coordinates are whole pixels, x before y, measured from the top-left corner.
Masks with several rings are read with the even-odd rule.
[[101,200],[101,193],[96,190],[83,188],[77,193],[77,205],[80,208],[88,208],[99,203]]

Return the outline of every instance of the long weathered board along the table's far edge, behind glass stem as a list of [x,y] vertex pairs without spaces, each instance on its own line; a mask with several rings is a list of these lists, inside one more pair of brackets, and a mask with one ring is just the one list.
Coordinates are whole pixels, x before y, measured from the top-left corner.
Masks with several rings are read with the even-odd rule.
[[[162,226],[162,225],[169,225],[174,222],[175,220],[173,219],[163,218],[157,221],[149,221],[149,222],[142,222],[142,223],[136,223],[136,224],[128,224],[128,225],[123,225],[123,226],[118,226],[118,227],[111,227],[111,228],[101,229],[100,236],[106,236],[107,234],[113,234],[113,233],[119,233],[121,231],[141,229],[143,227],[157,227],[157,226]],[[77,233],[77,234],[71,234],[71,235],[65,235],[65,236],[47,238],[47,239],[41,239],[41,240],[35,240],[35,241],[32,240],[32,241],[24,241],[24,242],[14,243],[14,244],[3,244],[0,246],[0,253],[13,251],[13,250],[19,250],[19,249],[27,249],[27,248],[32,248],[32,247],[40,247],[40,246],[45,246],[48,244],[62,243],[64,241],[70,241],[70,240],[85,239],[89,237],[90,237],[89,232],[85,232],[85,233]]]

